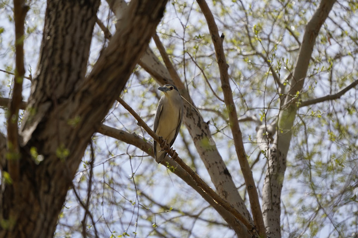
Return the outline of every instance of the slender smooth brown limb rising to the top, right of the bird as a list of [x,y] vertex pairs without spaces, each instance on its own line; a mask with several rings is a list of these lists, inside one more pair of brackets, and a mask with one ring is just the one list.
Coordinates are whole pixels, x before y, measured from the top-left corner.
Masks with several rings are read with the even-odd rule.
[[228,65],[222,45],[222,39],[219,35],[219,30],[214,20],[214,16],[209,9],[205,0],[197,0],[200,9],[202,10],[205,19],[208,23],[209,32],[213,40],[216,58],[220,71],[221,86],[224,93],[224,101],[229,115],[229,124],[232,131],[234,145],[236,148],[237,157],[240,163],[241,171],[245,179],[245,184],[250,199],[250,205],[252,210],[253,221],[258,229],[260,237],[266,237],[265,224],[263,223],[262,211],[260,207],[260,201],[258,199],[258,193],[256,184],[252,176],[250,164],[247,161],[245,148],[242,141],[242,133],[237,120],[236,106],[232,96],[232,90],[229,82]]

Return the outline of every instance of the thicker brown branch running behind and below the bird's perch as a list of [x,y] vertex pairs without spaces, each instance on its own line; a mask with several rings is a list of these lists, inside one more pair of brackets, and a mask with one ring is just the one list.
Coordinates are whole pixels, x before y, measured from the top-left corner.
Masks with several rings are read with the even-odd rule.
[[[102,135],[115,138],[127,144],[134,145],[135,147],[139,148],[140,150],[144,151],[145,153],[154,158],[153,145],[150,142],[143,140],[143,137],[136,135],[135,133],[118,130],[116,128],[103,124],[98,128],[97,132],[101,133]],[[175,168],[172,172],[176,174],[176,176],[181,178],[190,187],[192,187],[195,191],[197,191],[200,196],[202,196],[202,198],[204,198],[205,201],[207,201],[220,214],[220,216],[224,218],[224,220],[229,224],[230,227],[232,227],[232,229],[237,234],[244,234],[244,232],[246,233],[246,229],[242,229],[242,226],[239,226],[238,220],[230,212],[228,212],[218,203],[213,201],[213,199],[207,193],[205,193],[203,189],[198,187],[194,179],[190,177],[190,175],[182,167],[180,167],[178,163],[166,156],[161,162],[161,164],[166,167]],[[233,226],[231,224],[236,224],[236,226]]]

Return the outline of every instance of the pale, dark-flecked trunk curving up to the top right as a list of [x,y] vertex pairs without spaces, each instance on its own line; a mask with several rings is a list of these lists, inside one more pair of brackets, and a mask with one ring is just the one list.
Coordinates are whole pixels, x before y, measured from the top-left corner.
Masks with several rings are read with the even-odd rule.
[[[334,0],[322,0],[306,26],[299,56],[286,94],[285,103],[278,116],[278,128],[273,146],[269,150],[269,164],[262,189],[262,211],[268,237],[281,237],[281,191],[286,170],[287,152],[292,137],[292,126],[297,113],[296,92],[303,88],[313,46],[319,30],[328,17]],[[282,133],[281,133],[282,130]]]

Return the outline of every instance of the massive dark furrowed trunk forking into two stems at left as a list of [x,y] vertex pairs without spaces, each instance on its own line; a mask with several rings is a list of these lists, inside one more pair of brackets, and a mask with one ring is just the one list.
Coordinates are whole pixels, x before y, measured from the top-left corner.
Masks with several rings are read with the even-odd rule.
[[1,183],[0,237],[53,236],[84,150],[147,47],[166,1],[131,1],[126,21],[85,77],[99,4],[48,1],[38,71],[20,130],[18,187]]

